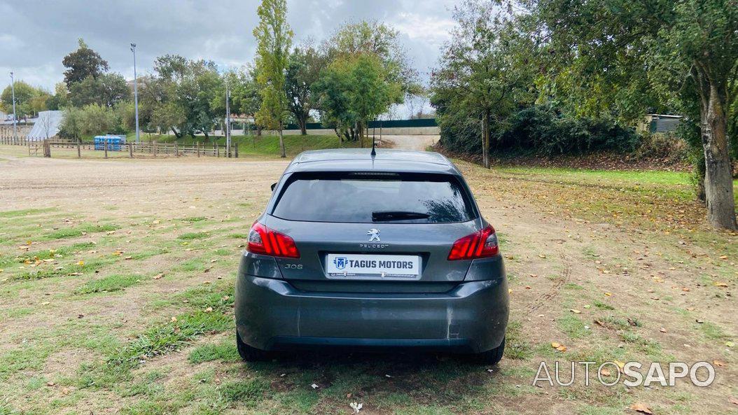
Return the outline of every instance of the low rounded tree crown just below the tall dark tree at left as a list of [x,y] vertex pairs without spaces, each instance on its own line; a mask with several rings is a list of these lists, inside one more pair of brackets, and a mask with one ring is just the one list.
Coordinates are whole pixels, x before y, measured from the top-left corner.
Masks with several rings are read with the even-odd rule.
[[120,74],[100,74],[86,77],[69,87],[69,102],[77,107],[89,104],[114,107],[131,100],[131,88]]

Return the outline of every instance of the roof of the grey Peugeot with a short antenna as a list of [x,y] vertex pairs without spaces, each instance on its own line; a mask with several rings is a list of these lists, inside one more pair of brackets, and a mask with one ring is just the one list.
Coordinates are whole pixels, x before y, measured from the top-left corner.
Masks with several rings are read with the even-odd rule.
[[430,151],[337,148],[303,151],[289,164],[292,172],[418,172],[461,175],[448,158]]

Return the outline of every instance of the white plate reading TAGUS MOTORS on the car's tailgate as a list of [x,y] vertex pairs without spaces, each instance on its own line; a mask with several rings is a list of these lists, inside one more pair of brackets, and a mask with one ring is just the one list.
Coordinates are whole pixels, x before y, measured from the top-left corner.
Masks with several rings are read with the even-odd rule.
[[417,278],[420,276],[418,255],[328,254],[325,258],[328,276]]

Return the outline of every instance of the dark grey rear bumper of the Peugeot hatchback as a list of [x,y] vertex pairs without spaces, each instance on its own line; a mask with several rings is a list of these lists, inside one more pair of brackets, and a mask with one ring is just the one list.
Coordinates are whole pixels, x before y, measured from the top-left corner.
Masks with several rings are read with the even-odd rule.
[[408,347],[485,352],[508,321],[506,279],[462,282],[446,293],[322,293],[283,279],[241,274],[235,287],[238,334],[249,346]]

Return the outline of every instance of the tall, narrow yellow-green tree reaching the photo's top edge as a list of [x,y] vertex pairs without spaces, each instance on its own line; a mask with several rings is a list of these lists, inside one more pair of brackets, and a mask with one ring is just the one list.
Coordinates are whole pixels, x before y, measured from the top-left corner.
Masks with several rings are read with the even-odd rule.
[[293,35],[287,23],[287,2],[262,0],[257,13],[259,24],[254,29],[254,36],[257,40],[256,72],[261,108],[256,119],[258,124],[278,131],[281,156],[286,157],[282,134],[287,113],[285,71]]

